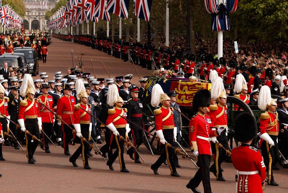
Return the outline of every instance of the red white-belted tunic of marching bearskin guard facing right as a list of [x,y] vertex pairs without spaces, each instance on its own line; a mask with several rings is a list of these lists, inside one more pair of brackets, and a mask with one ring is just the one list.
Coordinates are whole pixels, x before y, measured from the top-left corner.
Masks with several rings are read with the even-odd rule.
[[198,151],[199,154],[208,154],[212,156],[211,142],[200,139],[197,136],[210,139],[210,137],[217,137],[217,130],[212,130],[210,127],[211,119],[208,115],[197,113],[195,117],[191,118],[189,123],[189,141],[191,150]]

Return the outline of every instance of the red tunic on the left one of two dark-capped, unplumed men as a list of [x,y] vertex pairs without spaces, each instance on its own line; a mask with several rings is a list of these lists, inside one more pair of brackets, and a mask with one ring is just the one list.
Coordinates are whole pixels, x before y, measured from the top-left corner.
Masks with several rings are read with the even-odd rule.
[[[47,94],[42,94],[38,96],[38,99],[41,103],[44,103],[46,107],[48,107],[50,110],[54,112],[54,108],[52,107],[53,105],[53,96]],[[38,103],[38,106],[40,107],[40,115],[42,117],[42,123],[53,123],[53,114],[46,108],[44,107],[41,103]]]

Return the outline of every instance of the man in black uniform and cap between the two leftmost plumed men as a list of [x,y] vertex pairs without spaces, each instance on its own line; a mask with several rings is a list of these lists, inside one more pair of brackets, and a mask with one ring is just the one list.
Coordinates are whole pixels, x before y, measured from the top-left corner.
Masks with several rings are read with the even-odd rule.
[[[22,100],[21,96],[18,93],[19,86],[10,86],[9,89],[10,94],[8,95],[9,97],[9,102],[8,102],[8,112],[10,114],[10,119],[18,124],[18,114],[19,114],[19,104]],[[12,131],[12,133],[15,135],[16,139],[18,139],[18,133],[16,130],[16,125],[13,124],[12,122],[9,123],[9,129]],[[16,141],[12,141],[11,145],[14,146],[16,150],[19,150],[20,147],[18,146],[18,143]]]

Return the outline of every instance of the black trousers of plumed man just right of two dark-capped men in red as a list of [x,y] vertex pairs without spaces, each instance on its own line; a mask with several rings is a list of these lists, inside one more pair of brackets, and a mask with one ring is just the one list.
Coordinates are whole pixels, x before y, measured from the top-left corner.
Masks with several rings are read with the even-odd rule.
[[[87,139],[87,141],[89,138],[89,125],[90,124],[80,124],[82,137]],[[87,166],[88,165],[88,156],[87,156],[88,151],[89,151],[89,144],[84,141],[81,141],[80,146],[77,148],[74,154],[70,157],[69,159],[70,162],[76,162],[77,158],[80,156],[80,154],[82,154],[83,166],[84,167]]]

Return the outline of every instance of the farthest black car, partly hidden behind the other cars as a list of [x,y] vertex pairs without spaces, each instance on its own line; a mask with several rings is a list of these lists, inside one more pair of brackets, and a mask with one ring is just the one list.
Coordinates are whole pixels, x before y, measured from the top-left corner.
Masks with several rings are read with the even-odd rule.
[[17,47],[13,49],[14,53],[23,53],[29,63],[29,73],[32,76],[36,76],[39,73],[39,63],[38,63],[38,54],[37,50],[30,47]]

